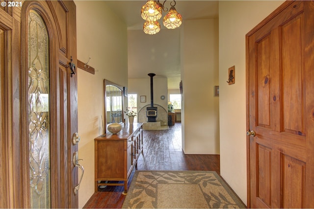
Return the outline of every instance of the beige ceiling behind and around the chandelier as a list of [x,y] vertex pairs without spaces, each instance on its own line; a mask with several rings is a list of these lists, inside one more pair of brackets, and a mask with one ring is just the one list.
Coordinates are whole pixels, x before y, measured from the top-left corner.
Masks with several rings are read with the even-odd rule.
[[[155,73],[156,77],[168,78],[168,89],[179,89],[181,27],[166,29],[159,20],[160,32],[147,35],[140,16],[146,0],[108,0],[106,3],[128,26],[129,78],[148,78],[148,73]],[[164,5],[170,8],[170,1]],[[177,0],[175,7],[183,17],[183,25],[185,20],[218,17],[218,1],[214,0]]]

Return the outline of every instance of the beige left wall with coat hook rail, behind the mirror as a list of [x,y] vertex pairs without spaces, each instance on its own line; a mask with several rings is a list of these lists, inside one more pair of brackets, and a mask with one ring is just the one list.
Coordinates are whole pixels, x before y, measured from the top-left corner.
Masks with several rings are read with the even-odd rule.
[[[113,18],[105,1],[75,1],[77,5],[78,59],[98,70],[78,69],[78,157],[84,177],[78,191],[82,208],[94,193],[94,138],[103,134],[104,78],[128,86],[127,26]],[[80,171],[79,171],[80,175]]]

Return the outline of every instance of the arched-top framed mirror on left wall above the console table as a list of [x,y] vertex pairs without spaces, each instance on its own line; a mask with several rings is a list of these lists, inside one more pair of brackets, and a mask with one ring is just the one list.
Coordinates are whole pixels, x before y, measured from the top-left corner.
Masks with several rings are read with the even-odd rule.
[[105,124],[123,122],[123,87],[104,80]]

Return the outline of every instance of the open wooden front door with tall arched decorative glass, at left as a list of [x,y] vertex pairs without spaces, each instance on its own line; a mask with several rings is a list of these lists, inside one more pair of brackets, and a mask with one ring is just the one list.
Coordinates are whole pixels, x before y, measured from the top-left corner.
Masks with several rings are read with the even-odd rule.
[[74,2],[2,1],[0,52],[0,208],[78,208]]

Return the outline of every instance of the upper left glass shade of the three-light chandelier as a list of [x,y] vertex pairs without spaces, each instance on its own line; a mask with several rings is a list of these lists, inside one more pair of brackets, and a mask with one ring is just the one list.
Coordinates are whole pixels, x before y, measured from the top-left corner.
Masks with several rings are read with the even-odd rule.
[[146,21],[157,21],[162,16],[162,7],[154,0],[148,0],[141,9],[141,17]]

